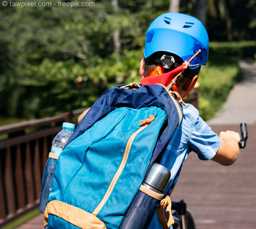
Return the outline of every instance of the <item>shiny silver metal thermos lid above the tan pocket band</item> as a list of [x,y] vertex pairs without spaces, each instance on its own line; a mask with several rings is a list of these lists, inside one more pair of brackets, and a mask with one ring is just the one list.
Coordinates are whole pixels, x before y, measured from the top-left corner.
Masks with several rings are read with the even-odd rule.
[[170,177],[170,170],[166,169],[163,165],[153,163],[147,172],[143,183],[163,193],[170,180]]

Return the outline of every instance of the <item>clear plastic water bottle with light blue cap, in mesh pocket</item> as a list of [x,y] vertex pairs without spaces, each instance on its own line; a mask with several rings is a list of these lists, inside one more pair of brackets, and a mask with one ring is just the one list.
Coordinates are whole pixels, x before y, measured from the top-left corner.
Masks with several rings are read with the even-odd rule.
[[62,130],[55,136],[52,141],[51,153],[45,164],[43,171],[43,180],[40,194],[39,211],[44,213],[46,202],[52,188],[54,172],[57,165],[58,155],[62,152],[70,136],[73,134],[75,125],[72,123],[63,123]]

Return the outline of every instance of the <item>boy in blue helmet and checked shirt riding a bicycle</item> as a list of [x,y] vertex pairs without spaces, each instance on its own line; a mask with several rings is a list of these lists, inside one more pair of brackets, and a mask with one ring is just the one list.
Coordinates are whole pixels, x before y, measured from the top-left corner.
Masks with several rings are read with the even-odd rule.
[[[146,33],[144,59],[141,60],[142,78],[161,75],[180,66],[196,51],[201,53],[191,62],[177,81],[175,91],[184,98],[194,87],[201,65],[208,58],[208,35],[202,23],[192,16],[180,13],[165,13],[156,18]],[[86,114],[79,117],[79,122]],[[188,153],[196,151],[201,160],[212,159],[222,165],[231,165],[239,153],[240,135],[234,131],[215,134],[199,117],[195,107],[183,107],[184,116],[175,130],[160,164],[171,170],[171,179],[166,187],[173,187],[180,168]],[[161,229],[154,215],[149,229]]]

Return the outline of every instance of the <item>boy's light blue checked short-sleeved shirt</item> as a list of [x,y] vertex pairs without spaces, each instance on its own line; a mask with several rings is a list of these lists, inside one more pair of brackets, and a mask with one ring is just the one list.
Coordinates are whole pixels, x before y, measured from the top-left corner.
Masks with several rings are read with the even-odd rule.
[[[160,164],[171,170],[171,178],[165,192],[176,182],[178,171],[188,153],[194,150],[199,159],[209,160],[215,156],[221,146],[221,139],[203,121],[194,106],[186,104],[183,113],[182,122],[174,131],[160,161]],[[149,229],[162,229],[157,214],[154,215]]]

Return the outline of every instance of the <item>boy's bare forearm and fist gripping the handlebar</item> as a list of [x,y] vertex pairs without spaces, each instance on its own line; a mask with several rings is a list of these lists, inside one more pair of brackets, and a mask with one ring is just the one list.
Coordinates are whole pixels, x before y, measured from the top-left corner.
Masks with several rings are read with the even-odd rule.
[[212,160],[222,165],[231,165],[239,153],[240,135],[235,131],[227,130],[219,133],[219,138],[222,140],[222,144]]

